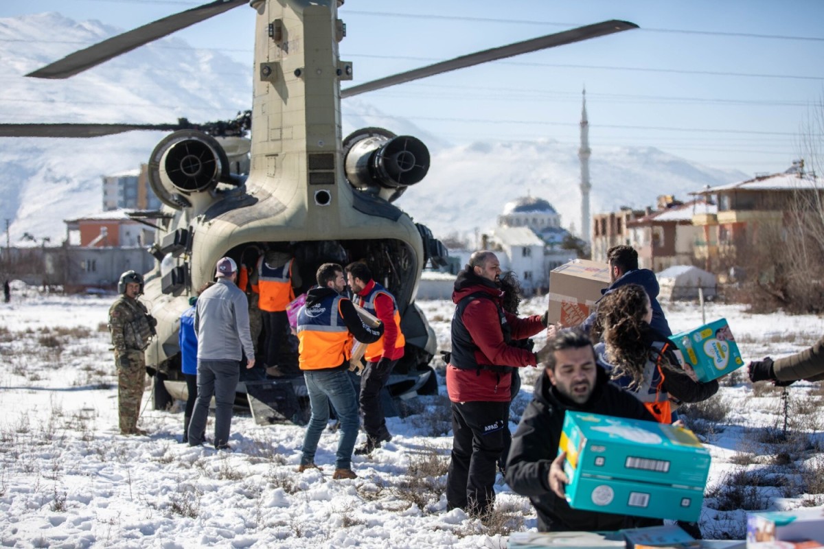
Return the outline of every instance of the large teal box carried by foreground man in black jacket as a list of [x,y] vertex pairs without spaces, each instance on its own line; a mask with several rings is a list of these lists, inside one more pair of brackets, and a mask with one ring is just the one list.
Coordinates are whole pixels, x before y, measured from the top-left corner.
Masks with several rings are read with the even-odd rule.
[[566,412],[566,499],[574,509],[697,521],[709,450],[691,430],[622,417]]

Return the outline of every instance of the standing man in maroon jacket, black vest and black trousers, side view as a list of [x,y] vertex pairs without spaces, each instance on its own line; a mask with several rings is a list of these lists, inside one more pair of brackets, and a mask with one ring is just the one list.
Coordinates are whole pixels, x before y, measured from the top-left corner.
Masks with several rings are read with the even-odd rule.
[[452,401],[452,461],[447,509],[485,517],[494,505],[496,462],[503,450],[513,367],[535,366],[536,354],[513,347],[546,327],[546,315],[519,319],[503,310],[501,268],[492,252],[471,255],[458,273],[452,301],[452,353],[447,392]]

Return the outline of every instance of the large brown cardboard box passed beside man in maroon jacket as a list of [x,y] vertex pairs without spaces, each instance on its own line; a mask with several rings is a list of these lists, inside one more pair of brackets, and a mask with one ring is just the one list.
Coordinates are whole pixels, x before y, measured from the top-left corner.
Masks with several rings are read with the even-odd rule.
[[550,271],[550,323],[578,326],[610,285],[610,266],[587,259],[573,259]]

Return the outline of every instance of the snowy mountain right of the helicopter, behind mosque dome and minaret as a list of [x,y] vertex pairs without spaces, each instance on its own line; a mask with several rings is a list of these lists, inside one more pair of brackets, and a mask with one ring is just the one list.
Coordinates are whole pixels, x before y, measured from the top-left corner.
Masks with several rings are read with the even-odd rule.
[[[747,179],[672,156],[653,147],[597,147],[590,158],[590,211],[622,206],[654,206],[661,194],[690,199],[705,185]],[[578,147],[550,140],[475,142],[433,154],[426,179],[410,188],[398,205],[436,235],[471,237],[494,226],[513,198],[545,198],[561,214],[563,226],[581,227]],[[433,210],[433,205],[437,205]]]

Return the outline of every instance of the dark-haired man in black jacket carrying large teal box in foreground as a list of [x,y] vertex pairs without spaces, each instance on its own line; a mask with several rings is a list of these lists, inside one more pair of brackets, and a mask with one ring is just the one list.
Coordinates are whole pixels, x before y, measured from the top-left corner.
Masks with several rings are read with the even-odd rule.
[[569,483],[564,475],[564,454],[558,444],[567,410],[654,421],[644,405],[630,393],[608,383],[595,361],[592,342],[579,330],[564,330],[542,350],[545,375],[523,412],[513,435],[506,479],[514,492],[527,495],[538,515],[541,532],[618,530],[661,524],[622,514],[572,509],[564,498]]

